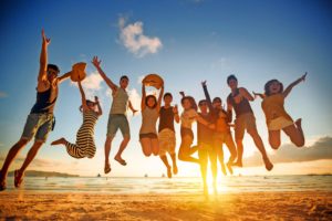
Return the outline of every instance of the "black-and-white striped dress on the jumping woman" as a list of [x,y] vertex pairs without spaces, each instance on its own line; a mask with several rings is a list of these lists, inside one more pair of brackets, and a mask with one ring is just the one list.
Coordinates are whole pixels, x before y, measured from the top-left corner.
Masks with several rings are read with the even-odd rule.
[[66,141],[65,147],[70,156],[74,158],[93,158],[95,155],[94,125],[98,116],[94,110],[83,112],[83,124],[76,134],[76,144]]

